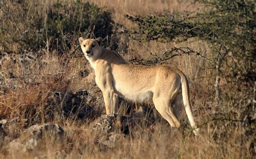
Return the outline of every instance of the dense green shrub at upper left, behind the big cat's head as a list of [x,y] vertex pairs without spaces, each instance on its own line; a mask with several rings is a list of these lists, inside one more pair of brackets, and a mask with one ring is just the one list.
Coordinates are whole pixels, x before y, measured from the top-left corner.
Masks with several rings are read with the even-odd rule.
[[60,53],[77,43],[81,33],[103,38],[112,33],[110,13],[88,2],[6,0],[0,7],[0,42],[7,52],[47,47]]

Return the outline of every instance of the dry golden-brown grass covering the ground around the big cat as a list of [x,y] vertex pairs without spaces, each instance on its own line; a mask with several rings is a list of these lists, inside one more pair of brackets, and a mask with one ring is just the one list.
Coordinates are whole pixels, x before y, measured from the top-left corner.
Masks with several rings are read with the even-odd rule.
[[[73,2],[73,1],[72,1]],[[69,3],[72,3],[71,1]],[[130,0],[130,1],[98,1],[92,0],[100,7],[112,13],[116,23],[133,27],[123,15],[148,15],[163,11],[195,11],[197,5],[190,4],[190,1],[163,1],[163,0]],[[46,1],[42,13],[53,1]],[[205,56],[211,56],[207,45],[203,41],[188,41],[183,44],[160,44],[149,42],[146,44],[129,40],[129,50],[124,54],[128,60],[131,56],[142,59],[151,59],[152,53],[161,53],[163,50],[173,46],[190,46],[191,48],[203,52]],[[68,54],[68,53],[67,53]],[[243,143],[241,137],[242,130],[239,127],[230,126],[228,135],[222,135],[226,131],[227,125],[214,125],[214,121],[208,122],[210,115],[214,111],[213,107],[213,70],[206,61],[197,56],[178,56],[167,65],[177,67],[187,75],[191,88],[191,101],[193,105],[196,122],[201,127],[201,135],[194,136],[188,128],[187,118],[183,109],[183,127],[171,130],[169,125],[163,123],[154,124],[152,128],[135,129],[134,136],[120,138],[113,148],[106,148],[94,144],[96,135],[91,130],[90,123],[83,120],[73,120],[70,118],[59,119],[57,115],[50,119],[47,115],[48,109],[44,105],[50,92],[60,91],[63,93],[78,89],[89,91],[97,90],[97,86],[79,75],[80,70],[90,70],[89,63],[84,58],[73,58],[65,64],[65,55],[60,57],[53,51],[45,48],[41,59],[28,62],[13,62],[6,60],[1,64],[1,76],[9,86],[6,93],[0,95],[0,119],[18,118],[29,119],[33,125],[35,123],[53,122],[57,123],[65,131],[65,139],[59,146],[45,139],[41,148],[33,153],[12,152],[8,149],[0,150],[0,158],[35,158],[45,155],[47,158],[54,158],[56,151],[65,150],[67,158],[253,158],[250,151],[250,142]],[[10,76],[15,75],[15,80],[10,80]],[[10,80],[10,81],[9,81]],[[18,88],[12,86],[18,85]],[[1,88],[3,89],[3,87]],[[102,107],[103,100],[100,93],[96,94],[100,98],[95,107]],[[30,112],[28,112],[30,111]],[[58,113],[58,112],[53,112]],[[48,119],[49,118],[49,119]],[[36,120],[33,120],[36,119]],[[24,129],[24,125],[9,127],[8,142],[17,138]],[[252,140],[253,140],[252,136]]]

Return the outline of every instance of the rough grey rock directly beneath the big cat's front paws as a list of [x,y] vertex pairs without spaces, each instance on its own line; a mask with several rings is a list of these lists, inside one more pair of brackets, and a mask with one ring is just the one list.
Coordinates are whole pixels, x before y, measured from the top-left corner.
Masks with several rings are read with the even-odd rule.
[[118,140],[133,136],[136,125],[150,126],[154,121],[153,111],[144,106],[130,116],[103,114],[92,124],[96,133],[95,144],[112,148]]

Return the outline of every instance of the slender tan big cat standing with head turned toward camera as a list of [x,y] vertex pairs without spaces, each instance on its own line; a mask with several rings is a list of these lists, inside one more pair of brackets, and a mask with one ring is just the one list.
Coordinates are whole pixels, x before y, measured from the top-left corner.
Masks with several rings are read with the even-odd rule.
[[[122,64],[126,62],[104,52],[106,49],[98,45],[97,39],[79,38],[79,41],[86,59],[95,70],[96,83],[103,92],[107,114],[117,113],[118,96],[134,102],[153,99],[154,106],[171,127],[179,127],[179,105],[183,99],[193,132],[198,134],[199,129],[191,111],[187,78],[180,70],[167,66]],[[95,47],[92,48],[92,45]]]

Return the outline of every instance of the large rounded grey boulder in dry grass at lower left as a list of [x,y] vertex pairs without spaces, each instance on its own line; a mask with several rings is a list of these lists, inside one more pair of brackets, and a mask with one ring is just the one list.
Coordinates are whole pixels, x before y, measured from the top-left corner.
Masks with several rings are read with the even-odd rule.
[[57,124],[33,125],[22,132],[21,136],[9,143],[11,151],[36,150],[43,140],[58,144],[62,141],[63,129]]

